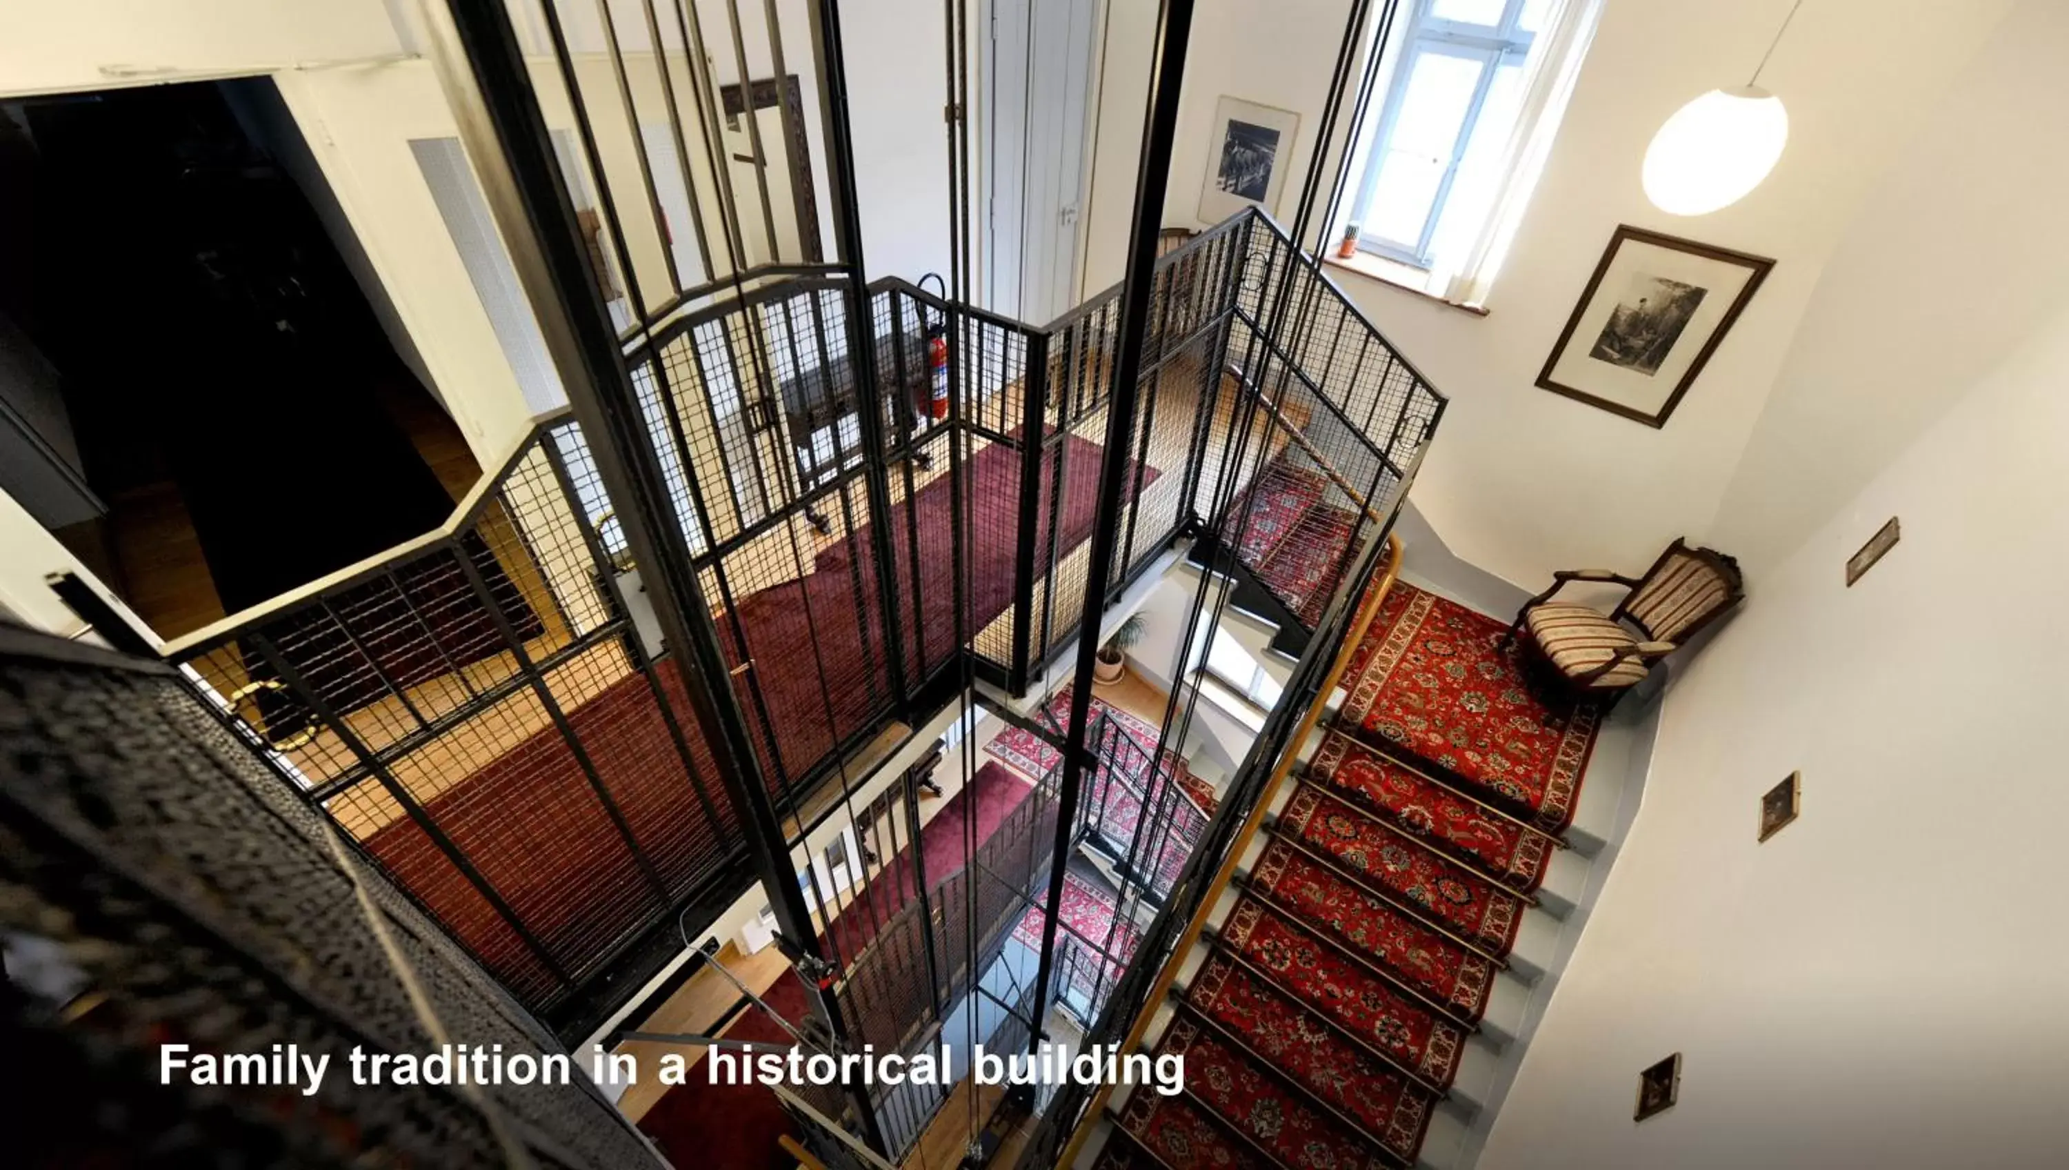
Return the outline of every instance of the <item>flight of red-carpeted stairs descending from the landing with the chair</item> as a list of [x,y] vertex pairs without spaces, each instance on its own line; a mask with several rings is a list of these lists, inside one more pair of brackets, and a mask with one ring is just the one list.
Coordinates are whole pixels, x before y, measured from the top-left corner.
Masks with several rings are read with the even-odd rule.
[[[1289,499],[1287,532],[1320,497]],[[1186,1089],[1117,1087],[1072,1164],[1448,1170],[1477,1153],[1608,864],[1622,760],[1597,756],[1548,830],[1512,793],[1357,727],[1345,688],[1384,636],[1380,594],[1415,590],[1397,572],[1138,1019],[1138,1050],[1181,1054]],[[1279,596],[1266,574],[1235,576]]]

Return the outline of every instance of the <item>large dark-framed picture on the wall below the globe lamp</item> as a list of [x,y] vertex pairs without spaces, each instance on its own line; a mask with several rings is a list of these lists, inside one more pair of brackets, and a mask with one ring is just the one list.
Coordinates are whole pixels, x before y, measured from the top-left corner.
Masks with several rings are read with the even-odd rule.
[[1622,226],[1537,385],[1666,427],[1775,261]]

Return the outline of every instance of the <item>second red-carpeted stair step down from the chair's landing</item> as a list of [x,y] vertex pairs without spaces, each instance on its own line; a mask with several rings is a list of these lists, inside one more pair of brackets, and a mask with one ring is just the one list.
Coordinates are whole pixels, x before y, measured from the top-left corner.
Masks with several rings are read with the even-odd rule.
[[1529,905],[1523,895],[1426,849],[1316,785],[1301,783],[1272,828],[1281,837],[1301,839],[1372,888],[1405,899],[1430,922],[1488,955],[1506,955],[1517,940]]

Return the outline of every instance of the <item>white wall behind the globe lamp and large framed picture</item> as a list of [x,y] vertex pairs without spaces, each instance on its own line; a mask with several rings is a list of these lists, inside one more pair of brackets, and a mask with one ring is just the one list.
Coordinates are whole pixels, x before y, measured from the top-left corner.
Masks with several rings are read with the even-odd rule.
[[[1115,0],[1155,8],[1148,0]],[[1786,101],[1790,149],[1734,207],[1663,215],[1639,188],[1653,130],[1682,101],[1750,75],[1786,0],[1608,0],[1490,315],[1341,273],[1359,306],[1450,396],[1415,499],[1467,561],[1537,588],[1554,567],[1637,569],[1680,534],[1709,536],[1740,454],[1827,259],[1862,197],[1899,157],[2009,0],[1825,0],[1798,12],[1763,83]],[[1279,217],[1289,222],[1314,149],[1341,0],[1208,0],[1194,17],[1167,226],[1204,226],[1198,193],[1215,104],[1243,97],[1301,114]],[[1146,77],[1148,43],[1130,46]],[[1109,83],[1123,56],[1109,46]],[[1140,110],[1109,108],[1107,118]],[[1119,143],[1128,145],[1128,143]],[[1103,151],[1095,240],[1107,269],[1126,240],[1134,157]],[[1101,220],[1103,217],[1103,220]],[[1618,224],[1655,228],[1777,261],[1666,431],[1537,389],[1535,377]],[[1117,232],[1117,234],[1115,234]]]

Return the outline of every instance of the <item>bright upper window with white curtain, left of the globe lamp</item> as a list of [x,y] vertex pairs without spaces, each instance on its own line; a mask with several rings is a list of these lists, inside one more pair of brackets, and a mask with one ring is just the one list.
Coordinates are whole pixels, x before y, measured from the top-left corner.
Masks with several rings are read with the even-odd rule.
[[[1357,246],[1477,300],[1564,112],[1599,0],[1415,0],[1388,50],[1349,220]],[[1442,282],[1467,275],[1469,292]]]

